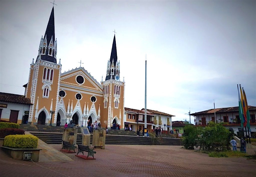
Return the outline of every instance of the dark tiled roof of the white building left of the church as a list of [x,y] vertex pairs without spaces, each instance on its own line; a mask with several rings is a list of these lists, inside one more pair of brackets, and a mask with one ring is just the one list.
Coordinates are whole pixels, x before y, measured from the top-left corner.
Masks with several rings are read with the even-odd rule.
[[24,95],[16,95],[12,93],[0,92],[0,101],[31,105],[31,101],[29,98],[25,98]]

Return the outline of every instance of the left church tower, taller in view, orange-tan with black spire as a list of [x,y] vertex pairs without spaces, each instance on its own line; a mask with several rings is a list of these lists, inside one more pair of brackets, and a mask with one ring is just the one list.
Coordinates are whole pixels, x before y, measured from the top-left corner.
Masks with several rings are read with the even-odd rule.
[[[45,31],[40,39],[38,56],[30,65],[25,96],[31,99],[28,122],[48,125],[50,111],[58,110],[61,64],[56,62],[57,39],[55,39],[54,8]],[[56,124],[57,114],[52,115],[52,124]]]

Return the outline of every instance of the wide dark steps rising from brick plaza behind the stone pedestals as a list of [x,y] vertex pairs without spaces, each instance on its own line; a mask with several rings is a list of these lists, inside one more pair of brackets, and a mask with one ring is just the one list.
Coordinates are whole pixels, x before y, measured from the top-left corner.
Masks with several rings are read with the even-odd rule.
[[[62,133],[31,132],[47,144],[61,144]],[[77,143],[82,143],[82,134],[78,133]],[[92,135],[91,135],[92,144]],[[138,145],[183,145],[178,138],[151,138],[121,135],[106,135],[105,144],[138,144]]]

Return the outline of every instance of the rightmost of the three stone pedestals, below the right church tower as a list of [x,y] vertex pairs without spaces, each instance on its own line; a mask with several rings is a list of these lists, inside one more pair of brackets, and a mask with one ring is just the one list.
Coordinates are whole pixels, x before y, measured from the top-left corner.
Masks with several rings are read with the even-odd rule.
[[106,130],[93,130],[92,146],[105,149]]

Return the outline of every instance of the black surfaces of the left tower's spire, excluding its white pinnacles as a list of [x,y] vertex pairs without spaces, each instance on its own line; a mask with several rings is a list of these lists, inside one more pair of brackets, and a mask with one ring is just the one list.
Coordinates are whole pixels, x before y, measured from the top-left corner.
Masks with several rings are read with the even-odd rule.
[[[52,7],[51,15],[45,30],[44,40],[47,39],[47,46],[49,47],[50,41],[52,37],[52,42],[54,44],[55,41],[55,28],[54,28],[54,8]],[[55,47],[55,46],[54,46]],[[52,52],[52,56],[48,55],[49,50],[46,48],[46,54],[41,55],[42,60],[50,61],[52,63],[57,63],[56,58],[54,58],[55,52]]]

